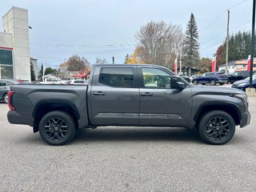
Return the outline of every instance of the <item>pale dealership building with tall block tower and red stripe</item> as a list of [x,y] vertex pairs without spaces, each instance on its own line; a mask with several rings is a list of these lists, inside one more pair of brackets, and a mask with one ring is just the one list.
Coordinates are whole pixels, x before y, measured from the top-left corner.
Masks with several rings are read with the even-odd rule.
[[30,80],[28,11],[13,6],[2,17],[0,78]]

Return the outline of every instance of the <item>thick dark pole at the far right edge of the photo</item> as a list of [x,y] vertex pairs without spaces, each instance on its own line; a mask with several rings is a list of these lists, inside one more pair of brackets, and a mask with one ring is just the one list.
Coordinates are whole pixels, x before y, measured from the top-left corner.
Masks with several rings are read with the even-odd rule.
[[253,70],[254,70],[254,36],[255,36],[255,0],[253,0],[253,21],[251,29],[251,42],[250,42],[250,88],[253,88]]

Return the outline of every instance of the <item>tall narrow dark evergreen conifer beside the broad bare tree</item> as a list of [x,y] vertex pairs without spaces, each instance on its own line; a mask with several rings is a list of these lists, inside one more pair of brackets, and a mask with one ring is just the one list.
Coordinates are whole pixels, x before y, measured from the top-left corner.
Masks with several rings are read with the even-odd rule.
[[191,13],[190,20],[186,25],[186,33],[183,47],[183,63],[189,67],[189,75],[191,75],[191,67],[198,66],[199,62],[199,44],[198,44],[198,26],[195,22],[194,14]]

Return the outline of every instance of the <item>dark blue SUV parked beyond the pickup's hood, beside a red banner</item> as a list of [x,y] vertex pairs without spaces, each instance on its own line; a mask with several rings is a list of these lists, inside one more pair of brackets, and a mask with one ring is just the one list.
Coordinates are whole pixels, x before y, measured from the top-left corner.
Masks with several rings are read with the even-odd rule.
[[198,78],[192,79],[194,85],[198,85],[198,83],[202,83],[202,85],[210,83],[211,86],[215,86],[217,83],[223,85],[227,82],[228,78],[226,77],[226,74],[220,74],[218,72],[207,72],[200,75]]

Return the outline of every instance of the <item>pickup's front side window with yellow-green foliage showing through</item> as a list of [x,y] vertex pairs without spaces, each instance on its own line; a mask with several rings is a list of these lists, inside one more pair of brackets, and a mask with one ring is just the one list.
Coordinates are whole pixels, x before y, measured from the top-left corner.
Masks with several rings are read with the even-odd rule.
[[154,68],[142,68],[145,88],[170,89],[170,74]]

